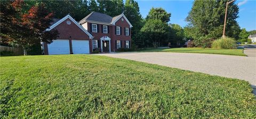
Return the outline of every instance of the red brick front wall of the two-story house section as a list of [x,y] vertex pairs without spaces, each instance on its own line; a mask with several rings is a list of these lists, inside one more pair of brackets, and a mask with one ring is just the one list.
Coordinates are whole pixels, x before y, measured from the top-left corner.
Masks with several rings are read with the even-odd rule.
[[[122,17],[123,18],[123,17]],[[125,36],[124,33],[124,28],[130,28],[129,23],[124,19],[124,21],[122,21],[122,18],[120,18],[115,25],[108,25],[109,27],[109,33],[102,33],[101,29],[101,25],[102,24],[98,24],[99,25],[99,32],[91,32],[91,27],[90,27],[90,23],[91,22],[86,22],[87,23],[87,31],[89,31],[91,33],[91,35],[94,37],[94,40],[100,40],[101,37],[103,36],[108,36],[111,39],[111,43],[110,43],[110,47],[111,47],[111,51],[116,51],[115,49],[115,44],[116,44],[116,40],[122,40],[122,47],[124,48],[125,45],[125,40],[129,40],[131,41],[131,33],[130,36]],[[97,23],[94,23],[97,24]],[[115,35],[115,26],[119,26],[122,27],[122,35]],[[130,28],[130,32],[131,32],[131,28]],[[100,46],[101,48],[101,46]]]

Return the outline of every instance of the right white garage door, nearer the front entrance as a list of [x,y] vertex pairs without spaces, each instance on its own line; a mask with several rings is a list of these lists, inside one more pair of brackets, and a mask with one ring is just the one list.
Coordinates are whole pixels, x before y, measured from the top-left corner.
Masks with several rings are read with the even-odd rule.
[[72,40],[73,54],[89,54],[89,40]]

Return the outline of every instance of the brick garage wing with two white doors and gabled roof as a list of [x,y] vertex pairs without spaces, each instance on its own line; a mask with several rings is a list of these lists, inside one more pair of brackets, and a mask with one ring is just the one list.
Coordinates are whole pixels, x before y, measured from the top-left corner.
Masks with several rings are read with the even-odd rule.
[[51,27],[46,31],[52,29],[59,31],[59,37],[51,44],[42,43],[45,55],[92,53],[90,44],[92,44],[93,36],[70,15],[60,20],[53,19]]

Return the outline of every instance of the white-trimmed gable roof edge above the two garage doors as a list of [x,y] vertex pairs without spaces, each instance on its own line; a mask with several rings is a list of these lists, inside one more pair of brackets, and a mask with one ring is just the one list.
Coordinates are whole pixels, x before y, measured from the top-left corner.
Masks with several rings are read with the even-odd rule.
[[59,21],[55,22],[54,24],[52,24],[50,26],[50,28],[46,29],[46,31],[50,31],[53,28],[57,27],[57,25],[59,25],[60,23],[62,23],[66,19],[70,19],[72,22],[74,22],[77,25],[78,28],[80,28],[82,31],[84,31],[90,38],[93,38],[93,36],[87,30],[85,30],[79,23],[77,23],[70,15],[66,15],[64,18],[62,18]]

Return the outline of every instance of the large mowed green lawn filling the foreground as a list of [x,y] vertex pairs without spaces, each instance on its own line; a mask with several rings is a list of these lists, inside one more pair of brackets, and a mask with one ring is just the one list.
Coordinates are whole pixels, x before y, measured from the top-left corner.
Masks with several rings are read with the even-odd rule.
[[255,118],[246,81],[97,55],[1,57],[0,118]]

